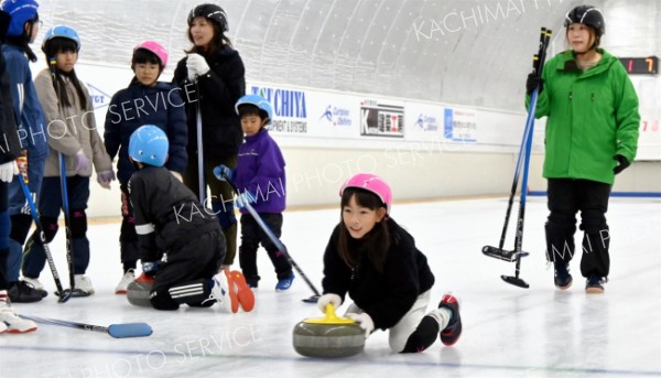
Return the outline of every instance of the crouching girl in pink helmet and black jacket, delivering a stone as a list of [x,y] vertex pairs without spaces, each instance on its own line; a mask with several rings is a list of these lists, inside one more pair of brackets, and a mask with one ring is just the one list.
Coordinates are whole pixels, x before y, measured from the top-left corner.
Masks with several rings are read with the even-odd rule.
[[437,309],[426,312],[434,274],[415,240],[389,217],[390,186],[379,176],[359,173],[343,185],[342,222],[324,253],[322,312],[336,309],[346,293],[354,300],[347,316],[366,336],[389,330],[390,348],[416,353],[429,348],[437,335],[451,346],[462,334],[459,303],[446,293]]

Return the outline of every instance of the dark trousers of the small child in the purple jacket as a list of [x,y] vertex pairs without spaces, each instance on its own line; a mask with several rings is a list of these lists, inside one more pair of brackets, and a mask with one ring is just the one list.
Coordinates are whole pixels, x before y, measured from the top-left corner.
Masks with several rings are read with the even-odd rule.
[[[282,214],[261,213],[260,217],[267,226],[273,231],[275,237],[280,238],[282,234]],[[257,270],[257,250],[259,245],[262,245],[275,268],[278,279],[284,279],[291,276],[292,264],[286,256],[278,249],[271,241],[267,233],[264,233],[252,215],[241,215],[241,247],[239,248],[239,263],[243,276],[249,281],[258,281],[260,279]]]

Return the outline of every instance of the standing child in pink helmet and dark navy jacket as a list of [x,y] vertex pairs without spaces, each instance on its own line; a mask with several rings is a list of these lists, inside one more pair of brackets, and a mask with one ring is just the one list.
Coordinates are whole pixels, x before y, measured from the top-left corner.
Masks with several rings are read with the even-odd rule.
[[129,138],[140,126],[154,125],[163,129],[170,141],[167,168],[181,180],[188,156],[186,143],[188,129],[184,102],[178,87],[159,82],[167,66],[167,52],[155,41],[144,41],[133,48],[131,68],[136,76],[127,88],[118,90],[108,106],[104,143],[110,158],[117,156],[117,179],[121,190],[121,228],[119,249],[123,276],[115,289],[116,294],[126,294],[133,281],[138,264],[139,248],[136,223],[127,184],[134,169],[129,159]]

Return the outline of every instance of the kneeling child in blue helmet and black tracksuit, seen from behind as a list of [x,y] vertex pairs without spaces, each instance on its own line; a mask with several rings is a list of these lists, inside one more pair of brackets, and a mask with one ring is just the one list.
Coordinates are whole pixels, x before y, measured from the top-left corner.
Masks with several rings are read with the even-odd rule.
[[150,302],[156,310],[216,302],[234,309],[237,298],[229,295],[227,277],[218,273],[226,248],[218,220],[164,166],[167,151],[167,137],[156,126],[140,127],[131,134],[129,156],[137,171],[128,190],[142,271],[154,278]]

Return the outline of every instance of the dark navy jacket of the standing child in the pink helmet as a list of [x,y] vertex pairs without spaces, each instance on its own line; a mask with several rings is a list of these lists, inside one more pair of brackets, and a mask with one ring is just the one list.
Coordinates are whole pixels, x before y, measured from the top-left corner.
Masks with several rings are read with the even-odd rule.
[[129,160],[129,139],[143,125],[158,126],[167,134],[166,169],[182,173],[188,162],[188,130],[180,88],[164,82],[145,87],[133,80],[128,88],[112,96],[106,114],[104,143],[110,159],[115,159],[119,151],[117,179],[120,183],[128,183],[136,171]]

